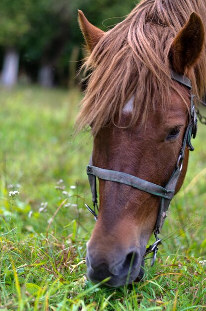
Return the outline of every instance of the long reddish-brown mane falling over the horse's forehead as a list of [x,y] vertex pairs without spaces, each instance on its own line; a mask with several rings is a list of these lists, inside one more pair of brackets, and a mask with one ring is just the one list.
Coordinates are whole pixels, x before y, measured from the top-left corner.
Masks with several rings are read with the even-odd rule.
[[[111,122],[118,126],[123,107],[133,95],[128,126],[137,120],[145,123],[157,104],[164,110],[174,88],[169,64],[171,44],[194,11],[205,25],[205,0],[142,0],[124,21],[102,36],[83,65],[90,73],[77,131],[92,125],[96,135]],[[193,92],[202,98],[206,93],[206,45],[191,78]]]

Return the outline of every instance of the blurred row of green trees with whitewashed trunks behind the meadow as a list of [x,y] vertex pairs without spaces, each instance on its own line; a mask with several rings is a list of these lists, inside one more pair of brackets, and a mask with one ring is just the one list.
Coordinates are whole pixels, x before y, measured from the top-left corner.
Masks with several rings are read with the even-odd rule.
[[0,0],[3,83],[15,83],[20,53],[21,64],[32,68],[42,85],[54,85],[55,76],[61,81],[67,77],[64,84],[68,84],[74,78],[75,62],[82,57],[77,48],[83,42],[77,9],[107,30],[134,6],[132,0]]

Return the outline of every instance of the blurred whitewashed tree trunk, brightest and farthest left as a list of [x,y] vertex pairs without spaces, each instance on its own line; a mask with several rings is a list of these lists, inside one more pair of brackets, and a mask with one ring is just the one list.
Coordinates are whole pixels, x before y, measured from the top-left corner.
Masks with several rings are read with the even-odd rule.
[[8,48],[3,59],[1,81],[5,86],[13,86],[17,82],[19,54],[15,48]]

